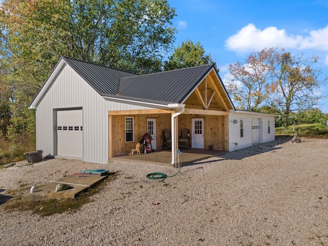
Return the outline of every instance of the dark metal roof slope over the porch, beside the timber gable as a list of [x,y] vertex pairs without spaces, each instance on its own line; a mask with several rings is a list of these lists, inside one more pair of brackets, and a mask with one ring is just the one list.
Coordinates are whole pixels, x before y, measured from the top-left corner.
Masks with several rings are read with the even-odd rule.
[[119,96],[183,103],[214,68],[213,64],[121,78]]

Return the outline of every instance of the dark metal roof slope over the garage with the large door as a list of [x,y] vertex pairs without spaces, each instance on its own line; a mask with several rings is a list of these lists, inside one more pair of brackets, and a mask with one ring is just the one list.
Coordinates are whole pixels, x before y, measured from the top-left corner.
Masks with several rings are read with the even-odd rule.
[[120,78],[137,76],[134,73],[88,63],[86,61],[68,57],[62,58],[99,94],[115,95],[117,93]]

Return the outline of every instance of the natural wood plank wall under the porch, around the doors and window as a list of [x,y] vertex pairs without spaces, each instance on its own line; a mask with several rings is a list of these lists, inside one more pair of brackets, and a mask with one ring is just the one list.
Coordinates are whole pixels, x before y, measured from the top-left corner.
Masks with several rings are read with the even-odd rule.
[[[141,114],[141,115],[109,115],[109,156],[127,155],[131,149],[140,141],[142,135],[147,132],[147,119],[156,119],[156,146],[157,149],[162,148],[163,129],[171,130],[171,114]],[[134,118],[134,141],[125,141],[125,117]],[[177,118],[178,134],[181,130],[187,128],[192,135],[192,119],[204,119],[204,149],[208,149],[210,145],[214,150],[228,151],[228,135],[227,135],[227,116],[220,115],[189,115],[181,114]],[[192,139],[190,139],[192,141]],[[192,142],[191,142],[192,144]]]

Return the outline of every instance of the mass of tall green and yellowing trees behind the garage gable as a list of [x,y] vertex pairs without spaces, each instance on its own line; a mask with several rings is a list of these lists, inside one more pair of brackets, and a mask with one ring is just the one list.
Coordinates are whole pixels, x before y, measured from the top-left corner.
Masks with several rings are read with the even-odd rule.
[[[9,133],[26,132],[34,120],[25,109],[60,56],[136,73],[160,71],[163,55],[174,42],[174,16],[167,0],[2,3],[0,65],[6,73],[0,78],[5,85],[0,95],[6,94],[5,88],[12,91],[10,124],[17,126]],[[25,122],[27,118],[31,120]]]

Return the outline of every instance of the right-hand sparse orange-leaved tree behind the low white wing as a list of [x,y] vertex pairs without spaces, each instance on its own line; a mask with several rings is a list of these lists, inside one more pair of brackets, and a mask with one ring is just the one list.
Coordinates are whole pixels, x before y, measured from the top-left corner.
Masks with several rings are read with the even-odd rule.
[[267,64],[272,83],[267,86],[271,102],[283,112],[284,126],[288,126],[291,111],[313,109],[325,96],[319,94],[327,77],[320,77],[321,70],[315,67],[319,57],[292,55],[284,49],[267,49]]

